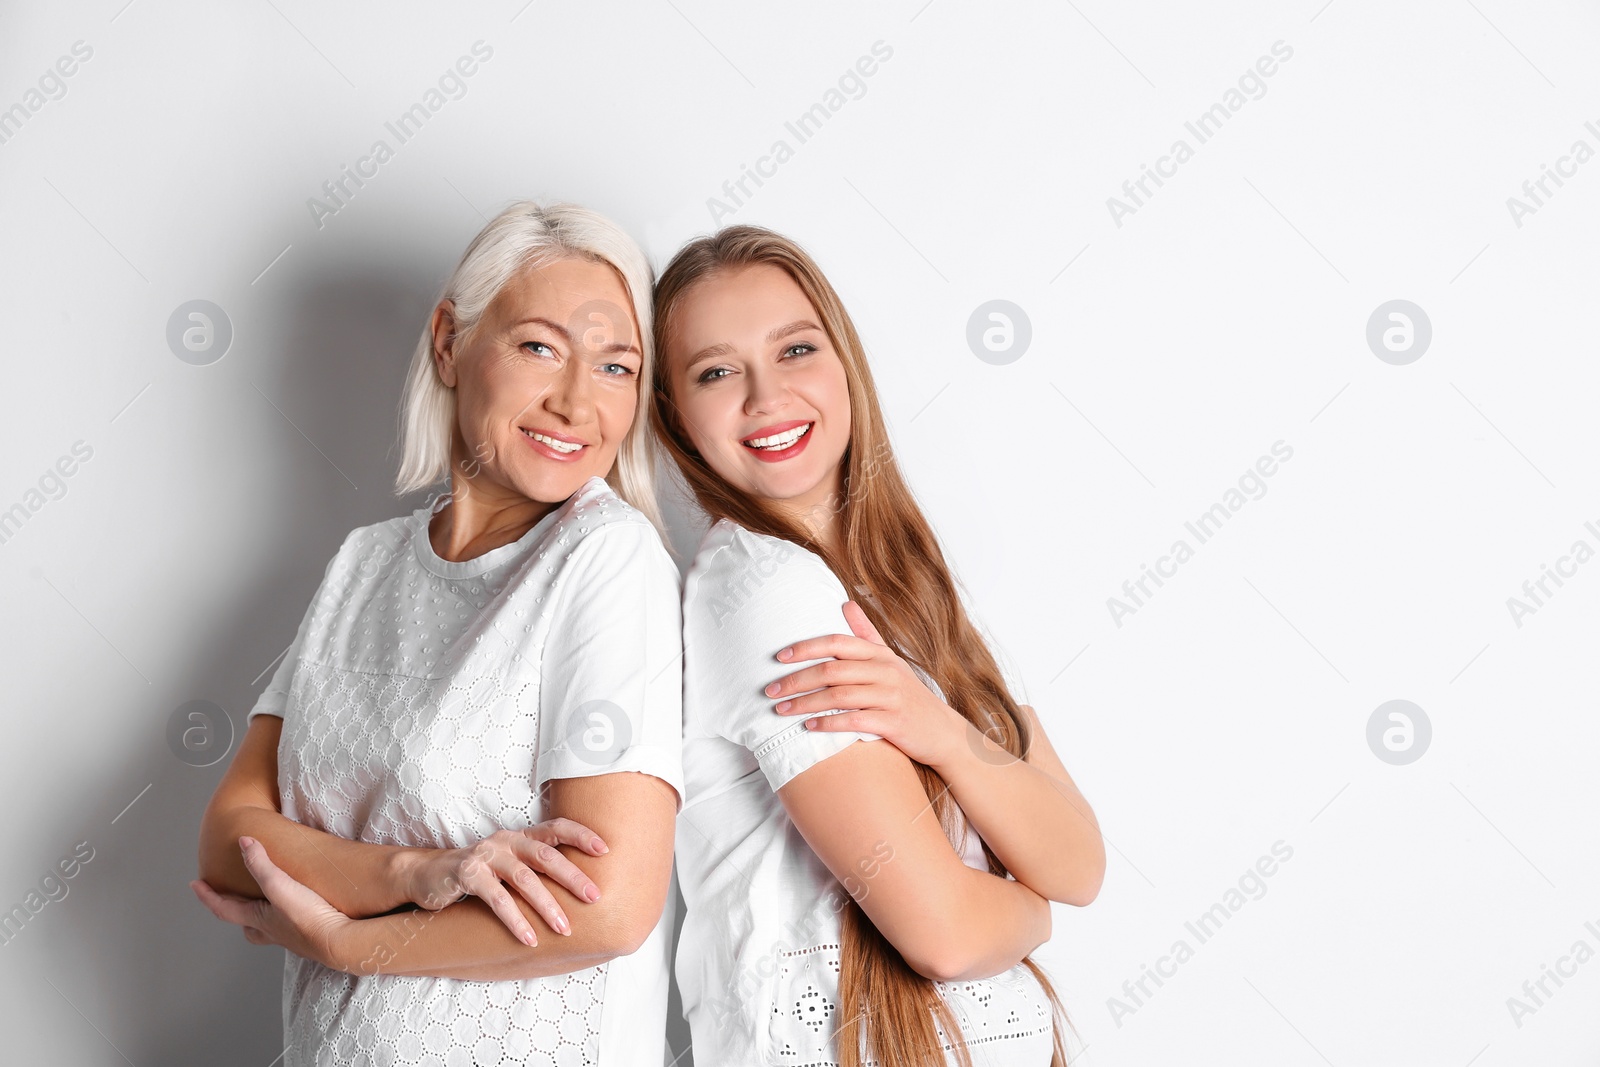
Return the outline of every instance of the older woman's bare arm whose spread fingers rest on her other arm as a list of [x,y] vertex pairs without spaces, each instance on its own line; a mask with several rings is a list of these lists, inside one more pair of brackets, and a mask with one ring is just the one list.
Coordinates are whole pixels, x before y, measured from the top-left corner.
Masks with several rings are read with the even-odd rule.
[[280,813],[277,750],[283,720],[251,720],[234,763],[218,784],[200,825],[200,878],[213,891],[262,899],[262,889],[240,838],[261,841],[274,869],[315,891],[318,899],[350,918],[384,915],[406,904],[438,910],[466,894],[483,897],[518,936],[531,936],[522,912],[510,904],[510,883],[550,928],[568,925],[555,897],[534,872],[571,889],[579,902],[597,894],[594,881],[557,846],[579,846],[602,854],[605,843],[571,819],[552,819],[525,830],[501,830],[467,848],[402,848],[352,841],[301,825]]

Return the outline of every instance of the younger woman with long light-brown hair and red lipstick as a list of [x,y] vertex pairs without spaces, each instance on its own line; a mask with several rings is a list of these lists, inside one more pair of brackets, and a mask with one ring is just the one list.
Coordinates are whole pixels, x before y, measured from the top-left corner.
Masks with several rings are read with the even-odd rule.
[[1064,1067],[1027,955],[1050,901],[1098,894],[1099,827],[962,606],[838,296],[725,229],[662,274],[656,349],[712,520],[683,600],[696,1059]]

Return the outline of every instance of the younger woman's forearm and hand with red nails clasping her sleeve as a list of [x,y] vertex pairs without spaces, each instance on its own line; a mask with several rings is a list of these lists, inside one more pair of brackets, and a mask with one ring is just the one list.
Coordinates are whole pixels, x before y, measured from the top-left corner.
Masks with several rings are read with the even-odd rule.
[[[858,605],[845,605],[845,619],[854,635],[798,641],[778,654],[790,662],[834,659],[774,683],[768,689],[768,696],[779,699],[774,710],[806,715],[845,709],[818,715],[806,726],[859,729],[891,741],[939,773],[966,819],[1018,881],[1051,901],[1090,904],[1106,877],[1099,822],[1034,709],[1022,707],[1030,747],[1019,760],[930,691],[885,646]],[[792,696],[810,689],[816,691]],[[1027,817],[1018,817],[1024,811]]]

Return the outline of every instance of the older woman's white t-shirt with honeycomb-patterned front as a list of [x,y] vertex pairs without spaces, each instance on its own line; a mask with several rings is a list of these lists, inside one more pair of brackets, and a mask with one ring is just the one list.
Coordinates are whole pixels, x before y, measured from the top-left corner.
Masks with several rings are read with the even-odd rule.
[[[283,814],[461,848],[544,821],[549,779],[619,771],[682,808],[678,571],[654,526],[598,477],[474,560],[440,558],[430,517],[344,539],[250,712],[283,717]],[[672,915],[638,952],[552,977],[344,974],[288,953],[285,1067],[661,1062]]]

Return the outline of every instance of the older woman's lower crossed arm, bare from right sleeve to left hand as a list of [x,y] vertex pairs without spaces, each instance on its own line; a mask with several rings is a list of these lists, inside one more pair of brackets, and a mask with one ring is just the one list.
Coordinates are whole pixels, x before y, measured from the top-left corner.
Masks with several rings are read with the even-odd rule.
[[[677,793],[648,774],[618,773],[550,782],[549,808],[598,829],[610,849],[594,856],[558,845],[600,893],[587,904],[560,881],[539,875],[544,889],[576,921],[552,933],[525,899],[506,894],[536,931],[526,945],[483,899],[472,896],[437,912],[402,912],[350,920],[278,870],[259,846],[246,862],[261,872],[269,901],[195,893],[218,915],[245,928],[251,944],[280,944],[323,966],[350,974],[410,974],[506,981],[566,974],[635,952],[661,920],[672,877]],[[213,899],[214,897],[214,899]],[[586,904],[578,909],[578,904]]]

